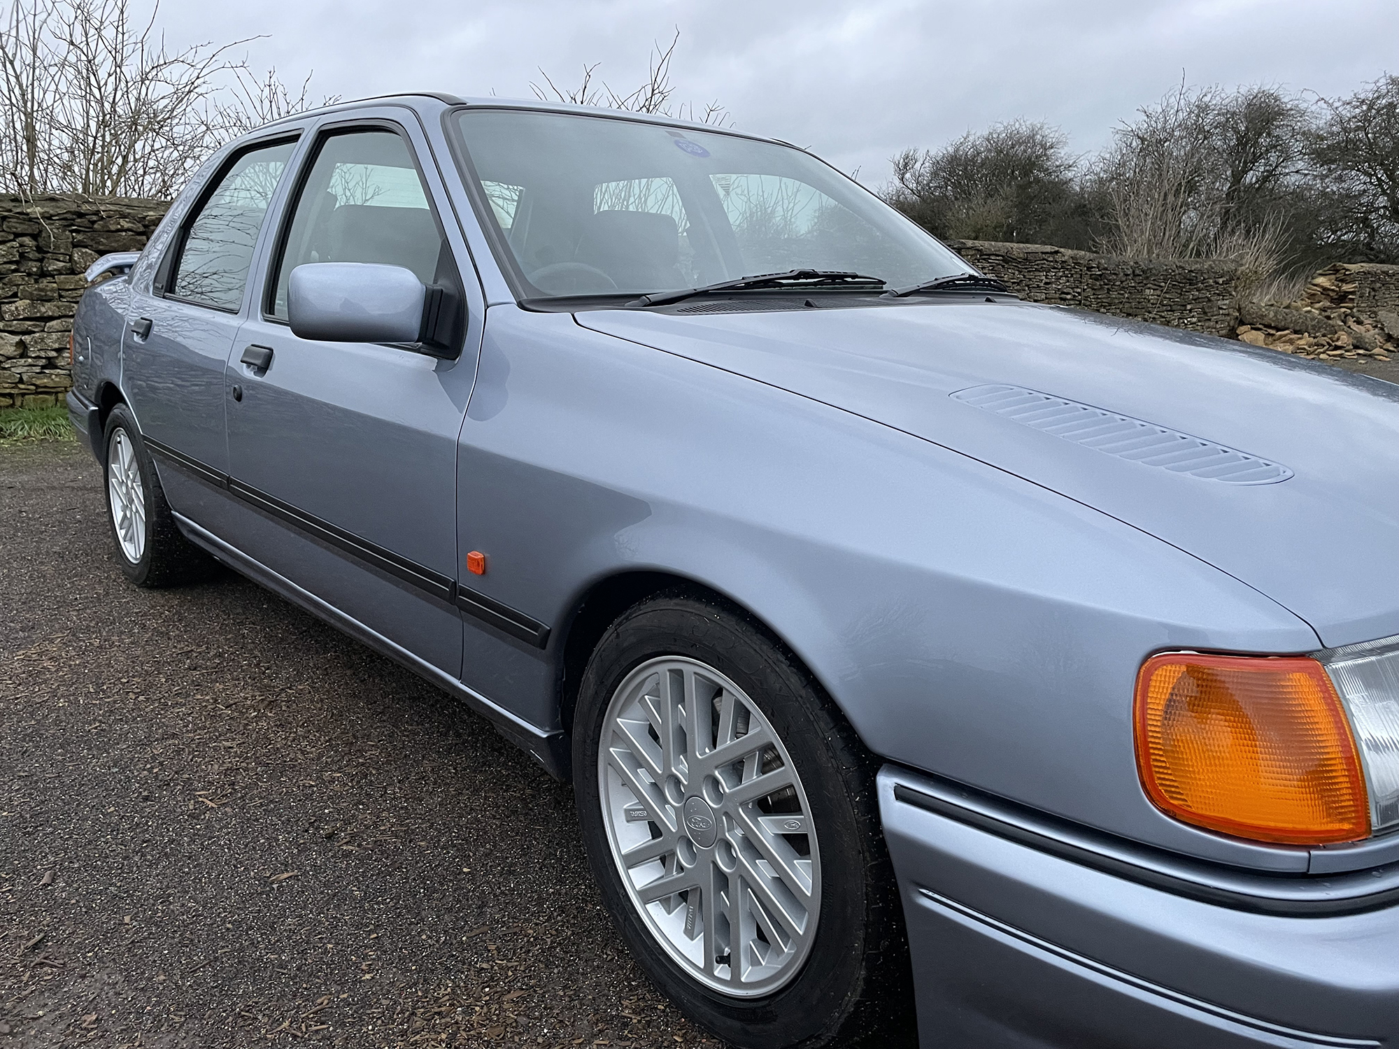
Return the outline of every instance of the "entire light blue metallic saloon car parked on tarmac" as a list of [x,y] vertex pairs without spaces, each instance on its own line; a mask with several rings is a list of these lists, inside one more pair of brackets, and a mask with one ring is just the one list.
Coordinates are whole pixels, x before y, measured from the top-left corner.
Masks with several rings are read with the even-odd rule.
[[1399,1043],[1399,387],[537,102],[277,122],[104,273],[130,579],[222,562],[571,779],[726,1042]]

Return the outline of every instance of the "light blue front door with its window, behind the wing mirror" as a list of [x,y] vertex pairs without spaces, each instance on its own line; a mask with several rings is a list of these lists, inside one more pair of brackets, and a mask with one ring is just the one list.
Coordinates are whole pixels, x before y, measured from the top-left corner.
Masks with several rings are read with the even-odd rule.
[[[228,361],[228,473],[239,509],[225,537],[457,678],[456,441],[480,337],[466,322],[483,311],[424,157],[411,124],[364,117],[322,127],[308,150],[262,267],[257,309]],[[445,355],[292,334],[291,271],[325,262],[403,266],[441,288],[448,348],[435,352]]]

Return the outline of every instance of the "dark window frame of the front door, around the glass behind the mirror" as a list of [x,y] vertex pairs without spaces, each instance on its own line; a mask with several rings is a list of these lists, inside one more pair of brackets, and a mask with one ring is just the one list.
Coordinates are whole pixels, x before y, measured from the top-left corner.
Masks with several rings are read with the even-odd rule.
[[[319,124],[315,129],[309,147],[302,152],[302,157],[297,164],[294,180],[285,194],[285,200],[281,206],[281,214],[277,217],[276,239],[271,242],[271,250],[267,253],[267,262],[262,270],[262,290],[257,297],[259,317],[269,324],[290,327],[287,319],[276,316],[271,309],[273,299],[277,295],[277,280],[281,276],[281,264],[285,259],[287,245],[291,239],[291,224],[297,217],[297,207],[301,204],[301,197],[306,190],[306,183],[311,180],[311,172],[315,169],[316,161],[320,157],[320,150],[325,147],[326,141],[339,136],[354,134],[355,131],[390,131],[399,136],[409,152],[409,159],[413,161],[413,169],[417,172],[418,183],[422,187],[422,197],[427,200],[428,214],[432,215],[432,225],[438,231],[442,248],[446,249],[452,259],[452,273],[449,274],[449,283],[452,287],[445,291],[450,294],[455,301],[453,309],[456,311],[456,333],[452,344],[446,347],[446,351],[449,351],[449,357],[455,358],[462,352],[469,327],[466,284],[462,278],[462,260],[457,257],[457,252],[453,249],[452,239],[448,236],[446,227],[442,222],[442,213],[432,193],[432,182],[428,179],[427,171],[422,166],[422,158],[418,157],[418,151],[413,145],[413,136],[409,134],[409,130],[402,123],[390,120],[389,117],[355,117],[350,115],[346,119],[332,120]],[[422,350],[417,343],[378,343],[376,345],[407,350],[409,352],[428,352],[431,357],[442,355],[435,350]]]

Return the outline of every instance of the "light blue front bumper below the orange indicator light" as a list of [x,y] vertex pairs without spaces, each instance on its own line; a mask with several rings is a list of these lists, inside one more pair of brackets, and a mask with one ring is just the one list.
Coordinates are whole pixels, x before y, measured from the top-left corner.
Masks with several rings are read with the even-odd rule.
[[925,1049],[1399,1045],[1399,905],[1221,905],[879,790]]

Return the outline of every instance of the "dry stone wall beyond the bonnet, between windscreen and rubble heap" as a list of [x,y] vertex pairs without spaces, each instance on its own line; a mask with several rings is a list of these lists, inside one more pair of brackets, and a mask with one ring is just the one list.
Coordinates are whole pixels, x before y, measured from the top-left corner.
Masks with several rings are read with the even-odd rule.
[[1150,262],[1067,248],[949,241],[982,273],[1031,302],[1079,306],[1214,336],[1231,336],[1238,267],[1228,262]]

